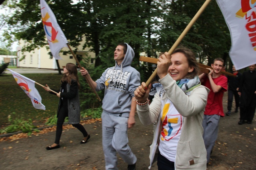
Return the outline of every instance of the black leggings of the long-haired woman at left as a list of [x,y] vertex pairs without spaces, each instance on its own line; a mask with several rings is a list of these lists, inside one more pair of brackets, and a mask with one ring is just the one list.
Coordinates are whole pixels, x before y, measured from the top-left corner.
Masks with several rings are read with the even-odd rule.
[[[68,108],[60,107],[58,119],[57,119],[56,137],[55,137],[55,142],[54,142],[56,144],[59,144],[60,136],[62,133],[62,125],[63,125],[66,117],[68,117]],[[72,124],[72,126],[74,126],[80,132],[82,132],[84,137],[88,136],[88,133],[86,132],[86,130],[84,129],[84,126],[82,124],[80,124],[80,123]]]

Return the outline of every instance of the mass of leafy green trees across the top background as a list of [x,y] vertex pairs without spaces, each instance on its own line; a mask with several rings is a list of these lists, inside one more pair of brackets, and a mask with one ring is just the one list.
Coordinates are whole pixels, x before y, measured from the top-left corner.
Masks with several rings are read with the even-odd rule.
[[[139,56],[158,57],[168,51],[194,17],[204,0],[47,0],[69,44],[77,47],[86,37],[84,47],[96,53],[95,67],[113,65],[113,51],[118,43],[126,42],[134,49],[132,63],[141,72],[142,80],[153,68],[140,65]],[[42,27],[39,1],[8,1],[13,15],[5,21],[16,39],[30,42],[24,50],[47,45]],[[18,27],[17,27],[18,26]],[[200,63],[211,63],[216,57],[227,56],[230,36],[216,2],[211,2],[181,44],[192,49]],[[225,57],[224,57],[225,58]],[[95,69],[96,70],[96,69]],[[98,69],[97,69],[98,70]],[[98,76],[100,71],[95,73]]]

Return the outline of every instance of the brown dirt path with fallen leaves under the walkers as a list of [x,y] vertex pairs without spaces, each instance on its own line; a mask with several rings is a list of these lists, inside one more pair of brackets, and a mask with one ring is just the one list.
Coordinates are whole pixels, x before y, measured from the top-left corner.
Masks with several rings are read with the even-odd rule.
[[[226,112],[227,92],[224,94],[223,107]],[[238,121],[239,113],[234,112],[231,116],[221,118],[208,170],[256,169],[256,120],[243,125],[238,125]],[[55,131],[14,141],[1,141],[0,169],[103,170],[101,122],[85,124],[84,127],[91,136],[86,144],[80,144],[80,131],[71,128],[63,130],[61,148],[51,151],[45,147],[54,142]],[[136,125],[128,131],[129,145],[138,158],[137,170],[148,169],[152,130],[153,126],[143,126],[136,115]],[[119,156],[118,167],[120,170],[127,169]],[[151,169],[157,169],[156,163]]]

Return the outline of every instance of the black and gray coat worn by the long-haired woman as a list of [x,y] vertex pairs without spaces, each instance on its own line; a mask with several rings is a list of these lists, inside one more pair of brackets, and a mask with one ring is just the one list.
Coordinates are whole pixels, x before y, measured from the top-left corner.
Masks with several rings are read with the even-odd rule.
[[[69,124],[78,124],[80,123],[80,102],[79,102],[79,90],[76,81],[71,81],[71,85],[67,82],[62,82],[60,90],[54,90],[60,93],[59,105],[58,105],[58,112],[57,117],[59,114],[60,107],[63,104],[68,105],[68,117],[69,117]],[[56,95],[53,92],[51,94]],[[66,100],[66,101],[65,101]]]

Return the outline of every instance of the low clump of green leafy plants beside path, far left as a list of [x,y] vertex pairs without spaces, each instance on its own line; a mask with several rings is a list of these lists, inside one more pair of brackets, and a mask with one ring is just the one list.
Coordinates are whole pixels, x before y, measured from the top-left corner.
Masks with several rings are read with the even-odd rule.
[[[15,115],[15,112],[12,113]],[[39,132],[39,130],[34,129],[37,126],[34,126],[32,119],[24,120],[23,117],[13,119],[11,115],[8,116],[8,121],[11,125],[6,126],[5,128],[0,129],[0,133],[12,133],[17,131],[22,131],[23,133],[28,133],[28,136],[31,135],[33,131]]]

